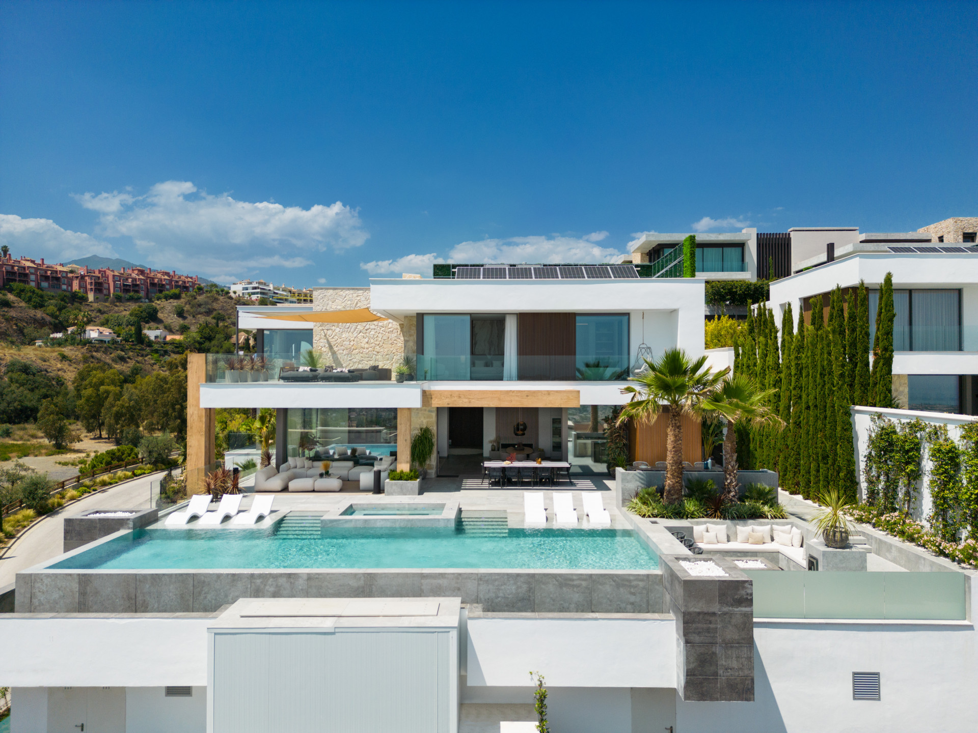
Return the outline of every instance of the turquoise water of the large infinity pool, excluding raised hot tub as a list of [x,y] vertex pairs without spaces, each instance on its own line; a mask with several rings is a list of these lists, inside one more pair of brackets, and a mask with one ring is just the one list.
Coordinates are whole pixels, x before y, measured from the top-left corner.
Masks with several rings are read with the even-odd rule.
[[355,529],[284,539],[246,531],[137,530],[51,567],[85,570],[221,568],[525,568],[654,570],[658,557],[630,530]]

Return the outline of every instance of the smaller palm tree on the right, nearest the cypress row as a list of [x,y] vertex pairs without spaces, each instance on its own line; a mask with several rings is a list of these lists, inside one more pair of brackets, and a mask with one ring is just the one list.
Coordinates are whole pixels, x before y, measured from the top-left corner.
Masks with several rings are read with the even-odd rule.
[[768,407],[776,389],[761,389],[757,382],[744,374],[734,374],[712,394],[703,400],[701,410],[719,415],[727,420],[724,437],[724,498],[737,500],[736,482],[736,425],[777,425],[784,422]]

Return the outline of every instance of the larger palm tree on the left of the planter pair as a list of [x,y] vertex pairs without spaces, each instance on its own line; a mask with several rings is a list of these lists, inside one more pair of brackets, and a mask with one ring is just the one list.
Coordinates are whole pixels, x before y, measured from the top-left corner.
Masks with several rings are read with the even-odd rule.
[[700,417],[703,400],[717,390],[730,369],[713,371],[706,367],[706,357],[693,361],[683,349],[668,349],[654,362],[629,380],[638,387],[625,387],[622,394],[632,395],[631,402],[618,415],[618,424],[628,419],[651,424],[662,405],[669,406],[666,424],[666,486],[663,500],[667,504],[683,500],[683,423],[682,415]]

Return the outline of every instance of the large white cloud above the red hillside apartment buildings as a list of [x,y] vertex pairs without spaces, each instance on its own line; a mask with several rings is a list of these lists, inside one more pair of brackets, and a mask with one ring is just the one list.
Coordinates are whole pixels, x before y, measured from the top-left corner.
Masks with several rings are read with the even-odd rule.
[[308,209],[241,201],[199,191],[189,181],[158,183],[143,195],[113,191],[74,198],[99,213],[100,235],[131,237],[147,264],[218,282],[263,267],[308,267],[313,262],[302,252],[348,249],[370,237],[357,210],[341,201]]

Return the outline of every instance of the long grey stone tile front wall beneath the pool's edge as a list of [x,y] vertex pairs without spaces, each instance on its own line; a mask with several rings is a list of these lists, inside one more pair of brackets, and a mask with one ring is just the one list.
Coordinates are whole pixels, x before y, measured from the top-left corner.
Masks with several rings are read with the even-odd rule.
[[211,613],[239,598],[460,596],[489,612],[664,613],[659,571],[31,570],[18,613]]

